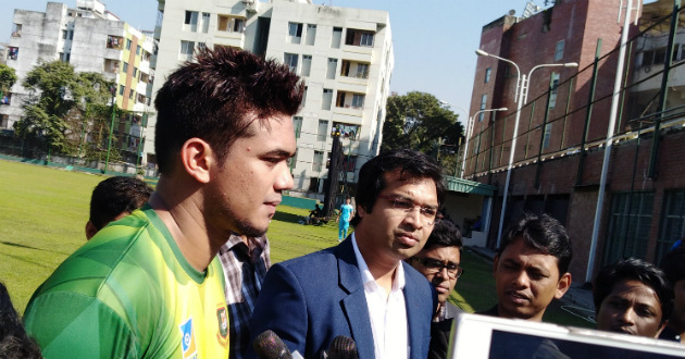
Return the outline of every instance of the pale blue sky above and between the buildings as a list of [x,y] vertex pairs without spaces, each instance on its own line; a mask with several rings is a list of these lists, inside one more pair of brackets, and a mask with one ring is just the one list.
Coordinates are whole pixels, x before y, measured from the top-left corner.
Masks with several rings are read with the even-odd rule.
[[[76,0],[53,0],[70,8]],[[45,11],[46,0],[0,0],[0,42],[9,42],[14,7]],[[155,0],[103,1],[107,10],[138,29],[154,29]],[[521,15],[527,0],[313,0],[315,4],[385,10],[390,14],[395,70],[390,90],[423,91],[452,106],[460,120],[469,110],[476,64],[475,50],[483,26],[514,10]],[[536,0],[543,7],[544,0]],[[475,110],[474,110],[475,111]]]

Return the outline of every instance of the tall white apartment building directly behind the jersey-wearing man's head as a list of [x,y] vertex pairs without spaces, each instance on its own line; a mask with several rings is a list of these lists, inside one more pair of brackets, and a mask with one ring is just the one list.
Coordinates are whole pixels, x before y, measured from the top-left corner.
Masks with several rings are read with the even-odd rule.
[[[342,183],[356,183],[360,166],[377,154],[394,67],[386,11],[311,1],[159,0],[155,36],[153,94],[201,47],[229,46],[274,58],[304,78],[304,104],[292,119],[291,195],[323,196],[333,128],[342,134]],[[145,151],[151,153],[153,137],[146,138]],[[154,162],[154,156],[148,160]]]

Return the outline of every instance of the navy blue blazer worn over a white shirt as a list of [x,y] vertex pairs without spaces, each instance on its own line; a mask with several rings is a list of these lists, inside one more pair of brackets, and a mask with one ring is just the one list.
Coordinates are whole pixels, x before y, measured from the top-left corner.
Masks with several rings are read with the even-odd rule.
[[[409,358],[425,359],[437,297],[421,273],[403,261],[402,265]],[[354,339],[360,359],[375,357],[366,296],[350,237],[269,270],[252,313],[250,343],[266,330],[307,359],[328,350],[338,335]],[[252,348],[248,357],[257,358]]]

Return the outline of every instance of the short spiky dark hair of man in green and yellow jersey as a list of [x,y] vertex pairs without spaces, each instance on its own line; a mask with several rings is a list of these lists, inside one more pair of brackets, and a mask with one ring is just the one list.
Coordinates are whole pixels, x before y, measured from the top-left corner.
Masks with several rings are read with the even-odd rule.
[[172,73],[157,94],[154,151],[160,173],[192,137],[205,140],[221,163],[233,143],[249,137],[254,114],[262,125],[276,114],[294,115],[304,83],[287,65],[247,51],[216,46],[196,53]]

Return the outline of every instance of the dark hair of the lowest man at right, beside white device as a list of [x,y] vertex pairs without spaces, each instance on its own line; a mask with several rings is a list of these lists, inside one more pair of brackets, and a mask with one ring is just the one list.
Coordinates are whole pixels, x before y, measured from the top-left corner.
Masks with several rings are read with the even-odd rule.
[[625,280],[639,281],[652,288],[661,304],[661,323],[669,320],[673,310],[673,288],[671,288],[665,273],[657,265],[637,258],[620,259],[599,271],[593,292],[595,312],[599,312],[601,302],[613,290],[613,286]]

